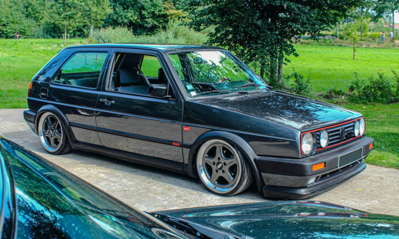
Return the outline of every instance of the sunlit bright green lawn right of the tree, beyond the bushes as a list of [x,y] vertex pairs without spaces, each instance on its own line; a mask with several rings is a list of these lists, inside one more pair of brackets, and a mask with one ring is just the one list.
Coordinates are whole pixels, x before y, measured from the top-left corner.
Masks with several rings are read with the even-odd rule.
[[327,92],[333,88],[348,91],[347,86],[355,79],[355,72],[365,80],[381,72],[395,83],[391,69],[399,70],[398,49],[359,47],[356,60],[352,60],[352,47],[295,45],[295,49],[299,57],[289,57],[292,63],[284,66],[284,75],[290,74],[292,67],[305,77],[310,75],[314,92]]

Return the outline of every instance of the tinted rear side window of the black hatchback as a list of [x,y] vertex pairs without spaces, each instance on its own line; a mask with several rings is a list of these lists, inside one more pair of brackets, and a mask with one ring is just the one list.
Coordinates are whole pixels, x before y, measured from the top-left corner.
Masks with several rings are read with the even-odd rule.
[[52,83],[96,88],[106,58],[105,52],[75,53],[62,65]]

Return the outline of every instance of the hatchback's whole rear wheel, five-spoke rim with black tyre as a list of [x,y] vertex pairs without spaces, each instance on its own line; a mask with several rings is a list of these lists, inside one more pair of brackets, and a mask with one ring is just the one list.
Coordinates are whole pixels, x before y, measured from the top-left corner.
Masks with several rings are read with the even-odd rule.
[[41,145],[52,154],[64,154],[72,150],[68,136],[58,117],[50,112],[44,113],[37,125]]

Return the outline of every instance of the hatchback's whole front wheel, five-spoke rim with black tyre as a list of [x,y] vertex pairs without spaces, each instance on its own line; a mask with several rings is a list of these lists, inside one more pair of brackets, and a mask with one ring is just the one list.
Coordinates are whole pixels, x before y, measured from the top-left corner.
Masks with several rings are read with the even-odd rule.
[[248,161],[238,149],[223,140],[204,142],[198,151],[196,165],[205,187],[221,196],[241,193],[253,181]]

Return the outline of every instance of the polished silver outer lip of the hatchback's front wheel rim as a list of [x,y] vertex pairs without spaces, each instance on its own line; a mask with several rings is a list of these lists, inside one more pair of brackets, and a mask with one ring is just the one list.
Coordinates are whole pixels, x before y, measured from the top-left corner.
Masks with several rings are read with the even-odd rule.
[[[206,160],[210,159],[210,158],[206,157],[206,155],[207,155],[207,152],[210,149],[212,149],[213,147],[215,147],[215,146],[216,146],[216,149],[218,149],[220,146],[227,148],[233,154],[233,158],[226,159],[226,158],[222,157],[220,159],[221,161],[217,161],[216,156],[215,156],[214,157],[215,158],[215,164],[213,165],[213,167],[211,166],[212,171],[213,171],[212,174],[215,173],[214,170],[217,169],[216,168],[216,165],[217,165],[216,162],[222,162],[223,163],[223,162],[227,162],[228,160],[233,160],[233,163],[237,164],[236,175],[235,175],[235,177],[233,179],[231,179],[231,182],[229,182],[227,185],[220,185],[220,184],[217,184],[217,183],[212,183],[211,182],[211,177],[209,176],[208,169],[205,166],[205,163],[207,163],[208,165],[211,165],[210,161],[209,162],[205,162]],[[223,153],[221,152],[220,155],[222,155],[222,154]],[[237,152],[237,150],[235,148],[233,148],[229,143],[227,143],[225,141],[218,140],[218,139],[211,139],[211,140],[208,140],[205,143],[203,143],[201,145],[201,147],[200,147],[200,150],[199,150],[198,154],[197,154],[197,162],[196,162],[196,164],[197,164],[197,170],[198,170],[198,174],[200,176],[201,181],[203,182],[203,184],[205,184],[205,186],[209,190],[211,190],[211,191],[213,191],[215,193],[224,194],[224,193],[231,192],[232,190],[234,190],[237,187],[237,185],[238,185],[238,183],[239,183],[239,181],[241,179],[242,165],[241,165],[241,161],[239,159],[238,152]],[[231,164],[230,166],[232,166],[232,165],[233,164]],[[226,168],[224,165],[223,165],[223,167],[220,168],[220,170],[224,170],[224,173],[219,173],[218,174],[219,177],[222,176],[222,175],[226,175],[226,176],[230,175],[228,170],[226,170],[228,168]],[[222,176],[222,177],[224,177],[224,176]],[[226,177],[224,177],[224,178],[226,180]]]

